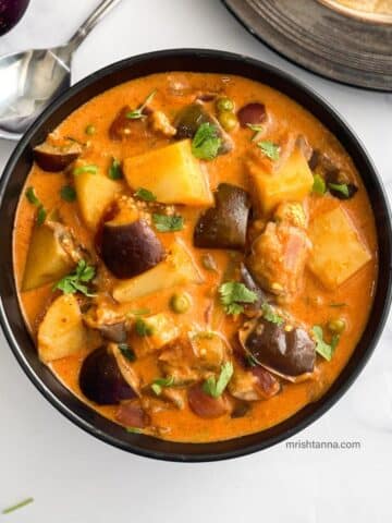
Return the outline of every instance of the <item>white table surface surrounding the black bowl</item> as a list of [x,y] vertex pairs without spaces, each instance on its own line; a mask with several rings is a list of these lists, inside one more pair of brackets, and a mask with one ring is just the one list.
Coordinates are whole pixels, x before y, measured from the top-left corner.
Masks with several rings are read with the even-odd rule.
[[[98,0],[32,0],[0,53],[64,41]],[[319,78],[259,44],[219,0],[123,0],[75,54],[73,82],[119,59],[174,47],[225,49],[291,72],[356,130],[392,194],[392,95]],[[0,141],[0,168],[14,144]],[[1,336],[1,335],[0,335]],[[0,509],[35,502],[19,523],[392,521],[392,324],[348,393],[294,438],[356,440],[359,450],[290,450],[175,464],[127,454],[85,434],[44,399],[0,339]]]

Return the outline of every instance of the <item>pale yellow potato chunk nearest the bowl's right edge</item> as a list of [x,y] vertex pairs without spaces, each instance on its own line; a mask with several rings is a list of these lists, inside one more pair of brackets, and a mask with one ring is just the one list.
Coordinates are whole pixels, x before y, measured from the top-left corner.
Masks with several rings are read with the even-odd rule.
[[336,207],[309,227],[314,248],[308,266],[328,289],[336,289],[371,259],[346,212]]

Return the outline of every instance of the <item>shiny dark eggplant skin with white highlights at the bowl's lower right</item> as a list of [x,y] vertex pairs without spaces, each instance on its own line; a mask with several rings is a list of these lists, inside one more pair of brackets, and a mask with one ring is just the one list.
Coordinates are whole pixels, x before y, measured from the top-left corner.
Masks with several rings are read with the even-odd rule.
[[261,318],[247,337],[245,346],[262,365],[286,376],[299,376],[315,368],[315,342],[301,327],[287,332],[284,325]]

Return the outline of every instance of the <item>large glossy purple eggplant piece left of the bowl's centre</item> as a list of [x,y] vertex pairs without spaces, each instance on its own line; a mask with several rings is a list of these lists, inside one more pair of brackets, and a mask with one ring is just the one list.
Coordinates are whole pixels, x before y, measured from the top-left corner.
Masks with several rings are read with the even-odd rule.
[[133,278],[164,258],[164,248],[145,220],[103,224],[101,255],[105,265],[119,279]]

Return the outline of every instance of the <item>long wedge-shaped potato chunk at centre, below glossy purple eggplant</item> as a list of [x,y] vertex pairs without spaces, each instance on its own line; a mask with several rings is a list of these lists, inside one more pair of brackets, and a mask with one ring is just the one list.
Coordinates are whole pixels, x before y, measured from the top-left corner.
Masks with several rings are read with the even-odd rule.
[[185,247],[175,242],[169,256],[143,275],[119,281],[113,288],[113,297],[120,303],[160,292],[184,283],[200,283],[203,278]]

